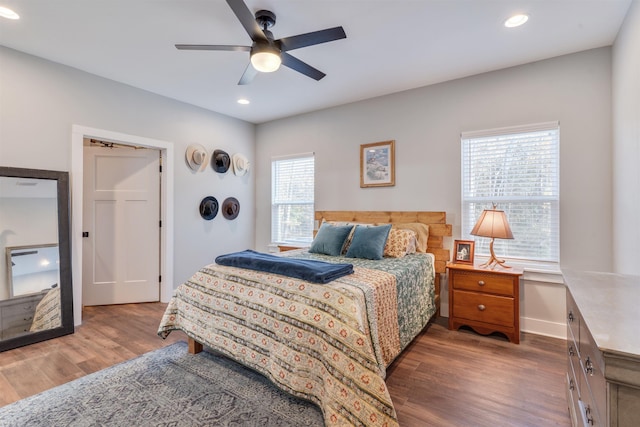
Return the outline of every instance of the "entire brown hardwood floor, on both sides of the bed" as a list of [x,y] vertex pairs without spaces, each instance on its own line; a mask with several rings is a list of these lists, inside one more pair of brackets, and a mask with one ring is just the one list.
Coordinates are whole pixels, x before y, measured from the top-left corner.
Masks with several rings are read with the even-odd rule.
[[[185,340],[156,329],[164,304],[86,307],[76,333],[0,353],[0,406]],[[402,427],[569,426],[564,340],[502,337],[431,324],[389,367]]]

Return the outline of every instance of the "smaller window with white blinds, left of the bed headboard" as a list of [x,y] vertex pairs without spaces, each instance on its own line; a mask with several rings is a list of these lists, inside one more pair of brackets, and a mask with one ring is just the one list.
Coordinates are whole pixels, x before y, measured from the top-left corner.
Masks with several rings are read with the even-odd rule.
[[308,245],[313,240],[313,153],[271,162],[271,240]]

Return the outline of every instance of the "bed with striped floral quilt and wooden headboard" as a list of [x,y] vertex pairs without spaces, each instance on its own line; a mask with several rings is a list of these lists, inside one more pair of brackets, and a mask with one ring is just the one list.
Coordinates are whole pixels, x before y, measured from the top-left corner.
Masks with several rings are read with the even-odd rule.
[[381,260],[281,254],[353,265],[353,274],[328,284],[210,264],[176,289],[158,334],[182,330],[190,352],[205,345],[257,370],[316,403],[327,426],[397,426],[386,368],[437,315],[451,226],[444,212],[319,211],[315,218],[318,226],[426,224],[428,247]]

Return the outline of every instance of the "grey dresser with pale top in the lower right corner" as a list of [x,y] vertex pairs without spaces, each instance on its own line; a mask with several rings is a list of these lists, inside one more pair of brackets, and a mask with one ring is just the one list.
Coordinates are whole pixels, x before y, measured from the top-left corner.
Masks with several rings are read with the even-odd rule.
[[640,426],[640,277],[563,271],[574,426]]

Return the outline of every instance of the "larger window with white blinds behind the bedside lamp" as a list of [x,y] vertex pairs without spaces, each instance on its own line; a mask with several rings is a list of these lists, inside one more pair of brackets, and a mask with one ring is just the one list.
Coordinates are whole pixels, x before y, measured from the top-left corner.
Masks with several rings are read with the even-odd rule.
[[[507,258],[559,262],[559,146],[557,122],[463,133],[462,236],[484,209],[504,210],[513,240],[496,239]],[[476,238],[476,254],[489,254]]]

